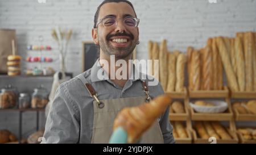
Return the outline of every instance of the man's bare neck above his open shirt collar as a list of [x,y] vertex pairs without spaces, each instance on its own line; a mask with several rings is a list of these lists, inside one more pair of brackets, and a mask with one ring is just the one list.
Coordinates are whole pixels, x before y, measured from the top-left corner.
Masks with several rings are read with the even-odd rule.
[[[106,73],[108,73],[108,77],[109,79],[111,79],[111,81],[113,81],[115,84],[117,84],[118,86],[124,87],[125,83],[127,82],[127,80],[129,79],[129,73],[131,72],[131,67],[129,67],[129,60],[131,60],[131,55],[127,56],[126,58],[122,58],[122,59],[118,59],[118,58],[114,58],[114,62],[113,58],[110,58],[110,56],[106,56],[103,52],[100,53],[100,60],[106,60],[108,61],[108,66],[102,66],[102,68],[105,70]],[[123,68],[125,66],[116,66],[115,62],[117,62],[118,60],[125,60],[126,62],[126,68]],[[101,64],[102,65],[102,64]],[[118,69],[122,69],[123,72],[126,73],[126,78],[122,78],[122,79],[118,79],[116,77],[116,74]],[[122,74],[125,74],[122,73]],[[113,78],[114,76],[114,78]]]

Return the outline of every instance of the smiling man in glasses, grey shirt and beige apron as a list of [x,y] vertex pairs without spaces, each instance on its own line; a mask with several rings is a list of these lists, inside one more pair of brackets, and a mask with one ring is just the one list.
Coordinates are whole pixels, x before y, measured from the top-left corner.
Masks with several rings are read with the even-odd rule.
[[[100,58],[91,69],[57,89],[46,122],[46,143],[108,143],[122,108],[138,106],[164,93],[160,83],[149,86],[149,78],[143,78],[147,76],[134,65],[111,65],[119,60],[129,64],[139,44],[138,25],[129,1],[106,0],[98,6],[92,37]],[[127,76],[111,78],[120,68]],[[175,143],[168,111],[143,134],[140,143]]]

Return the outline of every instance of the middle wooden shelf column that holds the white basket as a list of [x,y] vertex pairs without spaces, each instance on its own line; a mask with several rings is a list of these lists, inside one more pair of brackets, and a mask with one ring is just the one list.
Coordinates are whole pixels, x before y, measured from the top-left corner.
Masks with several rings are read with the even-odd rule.
[[[196,99],[221,99],[225,100],[226,103],[228,103],[228,110],[226,110],[223,113],[217,113],[217,114],[208,114],[208,113],[198,113],[193,110],[191,106],[189,106],[189,102],[191,100]],[[228,122],[229,127],[227,131],[229,132],[230,136],[232,136],[233,139],[225,140],[220,139],[217,140],[217,143],[238,143],[238,137],[236,133],[236,127],[234,124],[234,115],[232,111],[232,106],[230,103],[230,95],[229,95],[229,89],[228,87],[224,87],[223,90],[198,90],[198,91],[188,91],[188,98],[185,102],[186,106],[188,107],[188,110],[191,114],[191,132],[193,135],[193,143],[210,143],[208,139],[201,139],[198,137],[195,129],[193,128],[193,122],[195,121],[201,121],[201,122]]]

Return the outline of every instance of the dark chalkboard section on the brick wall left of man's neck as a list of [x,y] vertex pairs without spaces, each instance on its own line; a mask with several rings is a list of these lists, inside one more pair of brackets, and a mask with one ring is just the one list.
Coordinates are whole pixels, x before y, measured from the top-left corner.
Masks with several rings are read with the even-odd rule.
[[97,47],[92,41],[82,42],[82,72],[92,68],[99,57]]

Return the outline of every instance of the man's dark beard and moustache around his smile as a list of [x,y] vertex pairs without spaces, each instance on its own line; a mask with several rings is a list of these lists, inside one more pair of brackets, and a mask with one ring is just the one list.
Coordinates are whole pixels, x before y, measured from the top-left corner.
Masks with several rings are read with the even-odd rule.
[[[127,47],[113,47],[110,43],[110,37],[113,36],[129,36],[130,45]],[[124,33],[115,33],[114,35],[107,35],[106,38],[98,36],[100,48],[106,55],[114,55],[115,58],[126,58],[133,53],[134,48],[137,45],[137,40],[134,39],[132,34]]]

